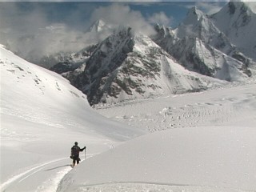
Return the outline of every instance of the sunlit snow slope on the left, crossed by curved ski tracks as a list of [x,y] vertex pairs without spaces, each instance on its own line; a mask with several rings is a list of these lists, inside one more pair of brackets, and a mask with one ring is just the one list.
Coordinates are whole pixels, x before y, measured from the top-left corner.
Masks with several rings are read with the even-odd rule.
[[3,46],[0,53],[1,190],[56,187],[52,177],[70,168],[75,141],[90,157],[142,134],[91,110],[86,95],[62,76]]

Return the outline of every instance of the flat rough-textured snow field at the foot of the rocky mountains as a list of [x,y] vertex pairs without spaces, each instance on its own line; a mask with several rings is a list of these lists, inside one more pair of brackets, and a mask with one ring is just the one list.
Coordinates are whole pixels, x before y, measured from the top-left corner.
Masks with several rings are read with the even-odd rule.
[[181,94],[118,106],[98,106],[97,111],[118,122],[154,132],[194,126],[254,126],[256,85],[230,84],[226,88]]

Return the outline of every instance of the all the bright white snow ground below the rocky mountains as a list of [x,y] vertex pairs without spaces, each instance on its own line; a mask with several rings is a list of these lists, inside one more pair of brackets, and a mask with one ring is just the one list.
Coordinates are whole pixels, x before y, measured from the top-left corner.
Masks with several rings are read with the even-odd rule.
[[[61,76],[0,56],[1,191],[256,190],[253,80],[92,110]],[[74,141],[86,161],[71,169]]]

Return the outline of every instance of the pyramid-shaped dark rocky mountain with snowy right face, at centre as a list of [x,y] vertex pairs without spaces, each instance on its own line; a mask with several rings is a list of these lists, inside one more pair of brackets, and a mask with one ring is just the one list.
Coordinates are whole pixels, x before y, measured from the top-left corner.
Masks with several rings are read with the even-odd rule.
[[149,37],[121,27],[98,44],[85,70],[71,83],[91,105],[206,89],[206,82],[184,69]]

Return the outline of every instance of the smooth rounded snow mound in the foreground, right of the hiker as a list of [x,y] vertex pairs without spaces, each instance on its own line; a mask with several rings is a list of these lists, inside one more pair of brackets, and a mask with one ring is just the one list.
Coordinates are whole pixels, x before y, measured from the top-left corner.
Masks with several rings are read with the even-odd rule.
[[147,134],[88,159],[58,191],[255,190],[255,137],[254,127],[224,126]]

